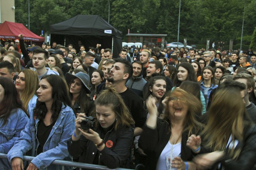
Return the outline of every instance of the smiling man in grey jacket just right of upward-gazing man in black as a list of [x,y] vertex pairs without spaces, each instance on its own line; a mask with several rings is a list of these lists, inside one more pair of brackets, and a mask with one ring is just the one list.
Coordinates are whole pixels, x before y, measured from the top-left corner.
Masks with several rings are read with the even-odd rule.
[[143,87],[146,84],[146,80],[142,78],[142,63],[140,61],[134,61],[132,63],[132,77],[127,81],[126,86],[134,91],[138,96],[143,97]]

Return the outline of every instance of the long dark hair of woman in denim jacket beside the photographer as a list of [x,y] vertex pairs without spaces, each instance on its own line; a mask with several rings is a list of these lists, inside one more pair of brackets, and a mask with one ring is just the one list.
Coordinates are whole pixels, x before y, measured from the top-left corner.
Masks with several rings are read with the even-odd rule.
[[[52,121],[56,121],[62,109],[62,104],[64,106],[71,106],[70,98],[67,94],[66,86],[64,80],[55,74],[42,76],[42,79],[52,86]],[[47,108],[44,102],[36,102],[36,108],[34,108],[34,116],[40,120],[43,120],[47,113]]]

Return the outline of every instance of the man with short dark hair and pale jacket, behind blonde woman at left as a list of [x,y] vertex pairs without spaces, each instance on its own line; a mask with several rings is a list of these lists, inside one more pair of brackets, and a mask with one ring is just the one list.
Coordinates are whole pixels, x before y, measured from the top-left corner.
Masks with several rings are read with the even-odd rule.
[[36,73],[38,74],[38,79],[40,80],[42,76],[48,75],[48,74],[56,74],[59,75],[58,72],[51,70],[50,68],[46,68],[46,60],[49,58],[48,51],[45,51],[42,48],[37,48],[33,51],[33,59],[32,63],[34,66],[34,69]]

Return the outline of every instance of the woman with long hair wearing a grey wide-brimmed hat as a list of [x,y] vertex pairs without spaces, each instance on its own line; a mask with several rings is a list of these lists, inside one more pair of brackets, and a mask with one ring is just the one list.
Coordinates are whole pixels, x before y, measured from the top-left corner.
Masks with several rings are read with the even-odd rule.
[[85,113],[89,116],[94,104],[87,94],[91,91],[88,88],[90,83],[90,77],[88,74],[83,72],[78,72],[76,74],[66,73],[66,81],[69,84],[69,96],[71,99],[71,104],[74,109],[74,113],[78,115],[79,113]]

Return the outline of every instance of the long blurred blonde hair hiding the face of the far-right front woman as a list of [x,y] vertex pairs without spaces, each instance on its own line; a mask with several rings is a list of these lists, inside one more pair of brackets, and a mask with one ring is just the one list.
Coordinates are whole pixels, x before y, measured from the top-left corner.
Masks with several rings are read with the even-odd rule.
[[[239,90],[219,89],[214,95],[210,106],[207,124],[202,131],[204,146],[216,151],[226,149],[229,137],[232,134],[232,142],[235,139],[243,140],[244,117],[246,109]],[[241,149],[229,150],[233,159],[238,158]]]

